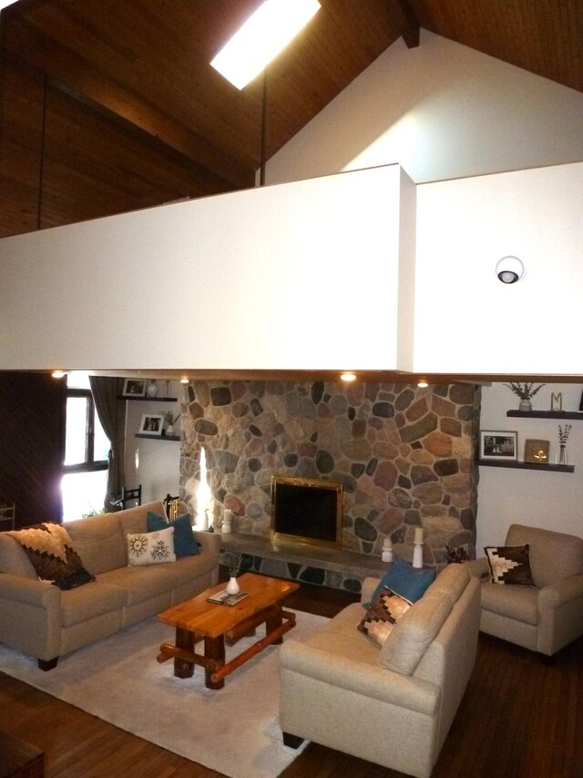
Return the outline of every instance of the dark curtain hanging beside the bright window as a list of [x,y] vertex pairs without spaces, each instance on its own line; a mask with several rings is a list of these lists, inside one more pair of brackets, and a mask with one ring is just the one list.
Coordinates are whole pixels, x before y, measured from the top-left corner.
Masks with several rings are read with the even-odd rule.
[[118,399],[123,391],[124,379],[90,376],[89,384],[97,416],[111,443],[108,456],[107,490],[104,499],[104,507],[107,511],[111,511],[113,503],[121,494],[124,482],[126,403],[123,399]]

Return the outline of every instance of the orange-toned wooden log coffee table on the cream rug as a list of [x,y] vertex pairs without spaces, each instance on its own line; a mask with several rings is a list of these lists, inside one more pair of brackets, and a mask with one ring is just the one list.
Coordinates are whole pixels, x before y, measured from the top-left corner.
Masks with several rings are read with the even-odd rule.
[[[248,596],[234,606],[208,602],[226,584],[210,589],[159,614],[159,620],[176,628],[176,644],[162,643],[159,662],[174,659],[174,675],[190,678],[195,665],[205,669],[208,689],[222,689],[225,678],[233,670],[259,654],[263,648],[281,643],[283,635],[295,627],[295,614],[281,608],[281,600],[300,588],[293,581],[245,573],[239,577],[241,592]],[[225,643],[234,645],[240,638],[255,634],[255,628],[265,622],[265,638],[253,643],[239,656],[225,662]],[[204,639],[204,654],[197,654],[195,645]]]

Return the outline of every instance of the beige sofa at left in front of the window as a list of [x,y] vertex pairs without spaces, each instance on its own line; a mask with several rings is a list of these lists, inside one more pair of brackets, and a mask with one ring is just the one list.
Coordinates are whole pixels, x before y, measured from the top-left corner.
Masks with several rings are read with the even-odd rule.
[[78,555],[96,580],[67,591],[36,576],[26,553],[0,533],[0,642],[38,659],[58,657],[153,616],[217,583],[220,536],[195,532],[199,554],[175,562],[128,566],[127,534],[144,533],[147,513],[161,502],[65,524]]

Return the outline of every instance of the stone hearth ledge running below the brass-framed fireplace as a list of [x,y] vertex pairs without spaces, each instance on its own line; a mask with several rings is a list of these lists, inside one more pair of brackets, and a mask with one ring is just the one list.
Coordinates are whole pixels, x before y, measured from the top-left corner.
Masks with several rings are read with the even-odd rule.
[[[377,556],[307,544],[285,543],[255,534],[221,534],[220,562],[235,558],[244,570],[359,592],[366,576],[384,576]],[[247,557],[247,559],[245,559]]]

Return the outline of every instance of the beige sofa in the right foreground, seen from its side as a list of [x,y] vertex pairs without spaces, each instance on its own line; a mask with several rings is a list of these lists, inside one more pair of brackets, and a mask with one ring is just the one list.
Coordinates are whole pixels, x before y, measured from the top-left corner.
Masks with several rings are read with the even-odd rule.
[[[376,579],[363,583],[363,602]],[[448,565],[401,617],[383,648],[346,607],[301,643],[281,647],[283,740],[303,739],[426,778],[476,662],[480,586]]]

